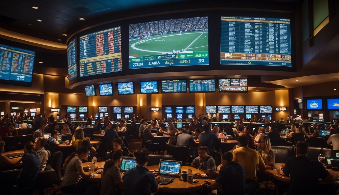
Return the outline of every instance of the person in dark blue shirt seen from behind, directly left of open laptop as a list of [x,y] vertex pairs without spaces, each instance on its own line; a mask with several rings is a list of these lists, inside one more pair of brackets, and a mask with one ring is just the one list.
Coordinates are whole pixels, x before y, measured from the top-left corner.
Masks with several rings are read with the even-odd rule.
[[152,191],[159,192],[157,179],[154,173],[150,172],[146,166],[148,163],[148,151],[138,150],[134,152],[134,156],[138,165],[132,169],[128,169],[123,179],[124,194],[151,194]]

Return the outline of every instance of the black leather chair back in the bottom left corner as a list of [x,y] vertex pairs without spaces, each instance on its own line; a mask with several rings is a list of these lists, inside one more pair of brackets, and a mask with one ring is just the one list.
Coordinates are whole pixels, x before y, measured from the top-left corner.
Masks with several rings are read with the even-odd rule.
[[17,169],[0,172],[1,194],[18,194],[18,186],[15,185],[18,175]]

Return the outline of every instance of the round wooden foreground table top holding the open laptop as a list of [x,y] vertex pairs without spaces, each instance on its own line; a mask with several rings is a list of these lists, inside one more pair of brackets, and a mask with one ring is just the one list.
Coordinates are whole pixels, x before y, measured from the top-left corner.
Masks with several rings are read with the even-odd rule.
[[[104,161],[98,162],[97,166],[103,166],[105,164]],[[83,163],[83,166],[87,166],[87,165],[92,165],[91,162],[88,163]],[[159,169],[159,165],[153,165],[153,166],[147,166],[148,170],[154,170],[154,169]],[[187,171],[188,169],[192,169],[193,173],[200,173],[200,174],[205,174],[202,171],[199,171],[196,168],[193,168],[191,166],[182,166],[181,167],[181,171]],[[102,170],[102,169],[99,169]],[[97,174],[97,173],[95,173]],[[215,179],[215,178],[214,178]],[[88,178],[86,179],[88,181],[94,181],[94,182],[100,182],[101,181],[101,174],[97,174],[97,176],[94,176],[92,178]],[[193,178],[193,180],[195,180],[195,178]],[[158,185],[159,186],[159,190],[160,192],[173,192],[173,193],[186,193],[186,192],[193,192],[193,191],[197,191],[197,190],[201,190],[204,189],[204,184],[205,184],[205,180],[209,180],[211,181],[211,179],[196,179],[199,182],[197,183],[191,183],[191,182],[184,182],[184,181],[180,181],[179,178],[175,178],[173,180],[172,183],[169,183],[167,185]]]

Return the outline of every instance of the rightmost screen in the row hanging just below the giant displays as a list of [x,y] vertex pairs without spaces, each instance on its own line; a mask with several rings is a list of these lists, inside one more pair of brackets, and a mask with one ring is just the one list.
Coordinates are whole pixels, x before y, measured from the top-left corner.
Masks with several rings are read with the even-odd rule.
[[219,79],[220,92],[247,92],[247,79]]

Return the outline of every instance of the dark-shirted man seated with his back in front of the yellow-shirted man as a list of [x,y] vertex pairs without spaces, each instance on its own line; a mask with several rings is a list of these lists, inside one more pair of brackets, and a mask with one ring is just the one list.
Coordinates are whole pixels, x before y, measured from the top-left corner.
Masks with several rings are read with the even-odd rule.
[[217,168],[219,174],[215,181],[206,186],[206,189],[218,189],[218,195],[245,194],[245,169],[240,163],[232,160],[233,154],[231,152],[225,152],[221,155],[221,165]]

